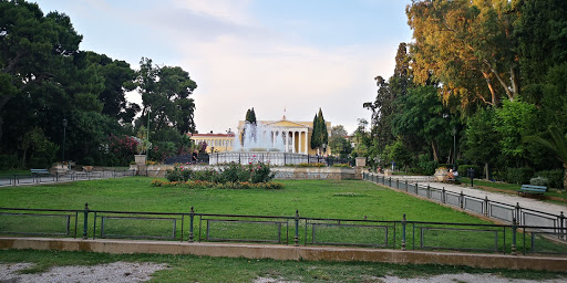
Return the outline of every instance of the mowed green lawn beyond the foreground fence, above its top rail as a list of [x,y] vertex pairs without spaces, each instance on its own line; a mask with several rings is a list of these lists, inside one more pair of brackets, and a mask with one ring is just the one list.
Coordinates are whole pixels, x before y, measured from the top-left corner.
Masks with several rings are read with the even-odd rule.
[[[0,207],[486,223],[464,212],[359,180],[282,180],[282,190],[152,187],[127,177],[0,188]],[[280,181],[280,180],[278,180]]]

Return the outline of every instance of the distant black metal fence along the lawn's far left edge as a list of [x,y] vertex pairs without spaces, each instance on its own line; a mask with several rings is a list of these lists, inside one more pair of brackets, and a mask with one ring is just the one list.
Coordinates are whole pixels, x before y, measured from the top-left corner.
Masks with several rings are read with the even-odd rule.
[[64,182],[76,180],[93,180],[93,179],[107,179],[107,178],[122,178],[135,176],[135,170],[103,170],[103,171],[69,171],[65,174],[29,174],[29,175],[10,175],[0,176],[0,187],[18,186],[18,185],[34,185],[47,182]]

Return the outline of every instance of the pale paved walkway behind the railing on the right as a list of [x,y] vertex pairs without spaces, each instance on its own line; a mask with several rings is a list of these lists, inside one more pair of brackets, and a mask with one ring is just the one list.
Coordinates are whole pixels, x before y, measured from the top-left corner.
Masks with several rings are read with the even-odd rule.
[[[382,176],[382,174],[379,174],[379,176]],[[486,191],[481,189],[471,188],[471,185],[452,185],[452,184],[444,184],[444,182],[436,182],[433,181],[433,178],[426,177],[426,176],[390,176],[392,177],[392,180],[399,179],[401,180],[408,180],[408,182],[419,182],[423,185],[430,185],[433,188],[443,189],[447,191],[453,192],[463,192],[464,195],[468,195],[476,198],[484,199],[485,197],[488,197],[489,200],[498,201],[503,203],[508,203],[512,206],[515,206],[516,203],[519,203],[522,208],[528,208],[533,210],[538,210],[547,213],[553,214],[559,214],[561,211],[566,213],[567,216],[567,206],[550,203],[546,201],[542,201],[534,198],[527,198],[527,197],[520,197],[517,195],[508,195],[508,193],[501,193],[501,192],[493,192],[493,191]]]

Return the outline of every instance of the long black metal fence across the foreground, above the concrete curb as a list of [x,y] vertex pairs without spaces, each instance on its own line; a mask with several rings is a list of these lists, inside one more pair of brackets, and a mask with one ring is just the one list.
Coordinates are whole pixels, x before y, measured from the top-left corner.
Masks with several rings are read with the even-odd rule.
[[567,254],[566,229],[542,226],[0,208],[0,235]]

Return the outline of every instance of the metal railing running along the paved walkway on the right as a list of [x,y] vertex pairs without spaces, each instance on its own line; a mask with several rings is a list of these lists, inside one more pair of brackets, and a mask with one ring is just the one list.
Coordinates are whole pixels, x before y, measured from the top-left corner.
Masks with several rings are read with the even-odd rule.
[[465,211],[475,212],[483,214],[484,217],[492,218],[499,221],[512,223],[516,221],[519,226],[532,226],[532,227],[546,227],[557,230],[564,230],[567,228],[567,219],[563,211],[559,214],[553,214],[544,211],[534,209],[523,208],[519,203],[509,205],[495,200],[489,200],[488,197],[477,198],[474,196],[465,195],[461,191],[453,192],[447,191],[444,188],[432,188],[429,185],[411,184],[367,174],[362,175],[362,178],[368,181],[384,185],[393,189],[402,190],[412,195],[416,195],[423,198],[427,198],[439,203],[449,205],[454,208],[458,208]]

